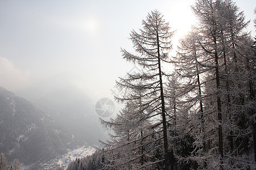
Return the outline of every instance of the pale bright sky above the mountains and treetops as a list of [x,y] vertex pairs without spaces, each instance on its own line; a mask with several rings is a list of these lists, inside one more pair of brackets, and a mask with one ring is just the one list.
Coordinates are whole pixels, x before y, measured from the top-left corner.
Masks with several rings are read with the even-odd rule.
[[[58,73],[76,75],[76,85],[95,101],[111,95],[118,76],[133,65],[120,48],[132,51],[132,29],[159,10],[173,30],[174,45],[193,23],[193,0],[170,1],[5,1],[0,0],[0,86],[19,92]],[[251,20],[256,2],[237,0]]]

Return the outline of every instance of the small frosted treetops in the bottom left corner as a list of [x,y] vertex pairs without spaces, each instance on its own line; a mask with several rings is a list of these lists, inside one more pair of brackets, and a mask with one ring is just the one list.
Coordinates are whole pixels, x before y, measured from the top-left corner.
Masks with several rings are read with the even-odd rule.
[[10,168],[8,167],[8,162],[3,153],[0,155],[0,170],[21,170],[22,166],[18,159],[14,159],[11,162]]

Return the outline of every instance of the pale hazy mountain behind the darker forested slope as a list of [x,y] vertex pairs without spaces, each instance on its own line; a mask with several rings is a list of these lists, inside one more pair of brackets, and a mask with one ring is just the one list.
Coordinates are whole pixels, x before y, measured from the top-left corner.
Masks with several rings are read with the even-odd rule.
[[95,104],[76,86],[76,75],[53,75],[28,89],[27,98],[84,143],[98,145],[107,134],[98,121]]

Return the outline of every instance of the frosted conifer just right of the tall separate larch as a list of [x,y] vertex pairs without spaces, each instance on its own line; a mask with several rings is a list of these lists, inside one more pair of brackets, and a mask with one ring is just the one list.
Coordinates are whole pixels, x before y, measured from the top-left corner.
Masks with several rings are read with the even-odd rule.
[[[194,151],[186,159],[199,160],[200,167],[203,168],[207,165],[206,162],[206,139],[205,139],[205,113],[203,108],[203,87],[205,84],[204,75],[209,69],[204,67],[208,65],[208,61],[204,59],[203,51],[198,43],[200,35],[193,30],[181,39],[177,55],[172,58],[175,64],[175,73],[179,76],[180,82],[180,96],[181,108],[183,111],[189,113],[192,123],[187,126],[187,130],[193,131],[193,137],[196,139],[194,142]],[[187,120],[186,120],[187,121]],[[184,131],[187,131],[184,129]],[[181,158],[184,159],[184,158]]]

